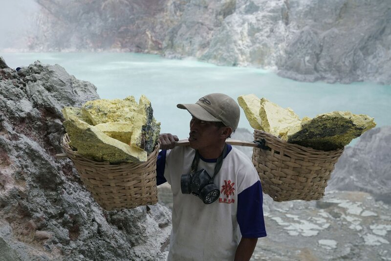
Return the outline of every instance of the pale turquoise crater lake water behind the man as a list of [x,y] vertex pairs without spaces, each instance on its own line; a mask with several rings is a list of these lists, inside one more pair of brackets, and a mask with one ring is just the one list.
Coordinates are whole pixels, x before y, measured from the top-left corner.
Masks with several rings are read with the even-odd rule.
[[[0,53],[13,68],[36,60],[59,64],[76,78],[93,83],[102,99],[141,94],[152,102],[162,133],[188,137],[190,114],[178,103],[195,103],[200,97],[222,92],[237,99],[254,93],[300,117],[348,110],[375,118],[377,127],[391,124],[391,86],[374,83],[302,83],[258,68],[217,66],[194,60],[169,60],[134,53]],[[241,112],[239,128],[252,131]],[[351,145],[354,144],[354,140]]]

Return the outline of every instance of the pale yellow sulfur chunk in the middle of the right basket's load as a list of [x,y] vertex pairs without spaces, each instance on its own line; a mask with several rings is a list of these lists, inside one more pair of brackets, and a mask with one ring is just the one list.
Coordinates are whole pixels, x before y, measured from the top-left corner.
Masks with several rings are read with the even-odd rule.
[[283,109],[265,98],[261,99],[259,114],[262,129],[285,141],[301,128],[301,120],[292,109]]

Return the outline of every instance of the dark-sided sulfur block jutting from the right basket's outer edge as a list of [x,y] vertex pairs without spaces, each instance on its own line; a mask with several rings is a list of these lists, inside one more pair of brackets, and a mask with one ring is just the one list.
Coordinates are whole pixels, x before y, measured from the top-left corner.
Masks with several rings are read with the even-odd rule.
[[354,138],[376,126],[373,118],[349,111],[333,111],[305,121],[288,142],[321,151],[342,149]]

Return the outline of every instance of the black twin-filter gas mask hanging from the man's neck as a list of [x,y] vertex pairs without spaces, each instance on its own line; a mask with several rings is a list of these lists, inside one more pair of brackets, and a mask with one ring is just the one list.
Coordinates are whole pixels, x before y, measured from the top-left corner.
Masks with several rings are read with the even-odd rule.
[[224,149],[221,155],[217,158],[215,173],[211,176],[206,170],[197,171],[199,162],[198,151],[195,151],[195,156],[192,163],[192,171],[189,174],[183,174],[180,177],[180,188],[182,194],[193,194],[202,200],[205,204],[211,204],[220,196],[220,190],[213,183],[217,173],[220,171],[223,163],[223,157],[227,153],[227,144],[224,144]]

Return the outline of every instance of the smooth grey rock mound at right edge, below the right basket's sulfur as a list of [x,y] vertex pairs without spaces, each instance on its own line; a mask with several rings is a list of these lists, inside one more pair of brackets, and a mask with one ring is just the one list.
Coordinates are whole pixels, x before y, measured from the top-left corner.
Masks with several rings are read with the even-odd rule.
[[326,189],[363,191],[391,204],[391,126],[364,133],[335,164]]

